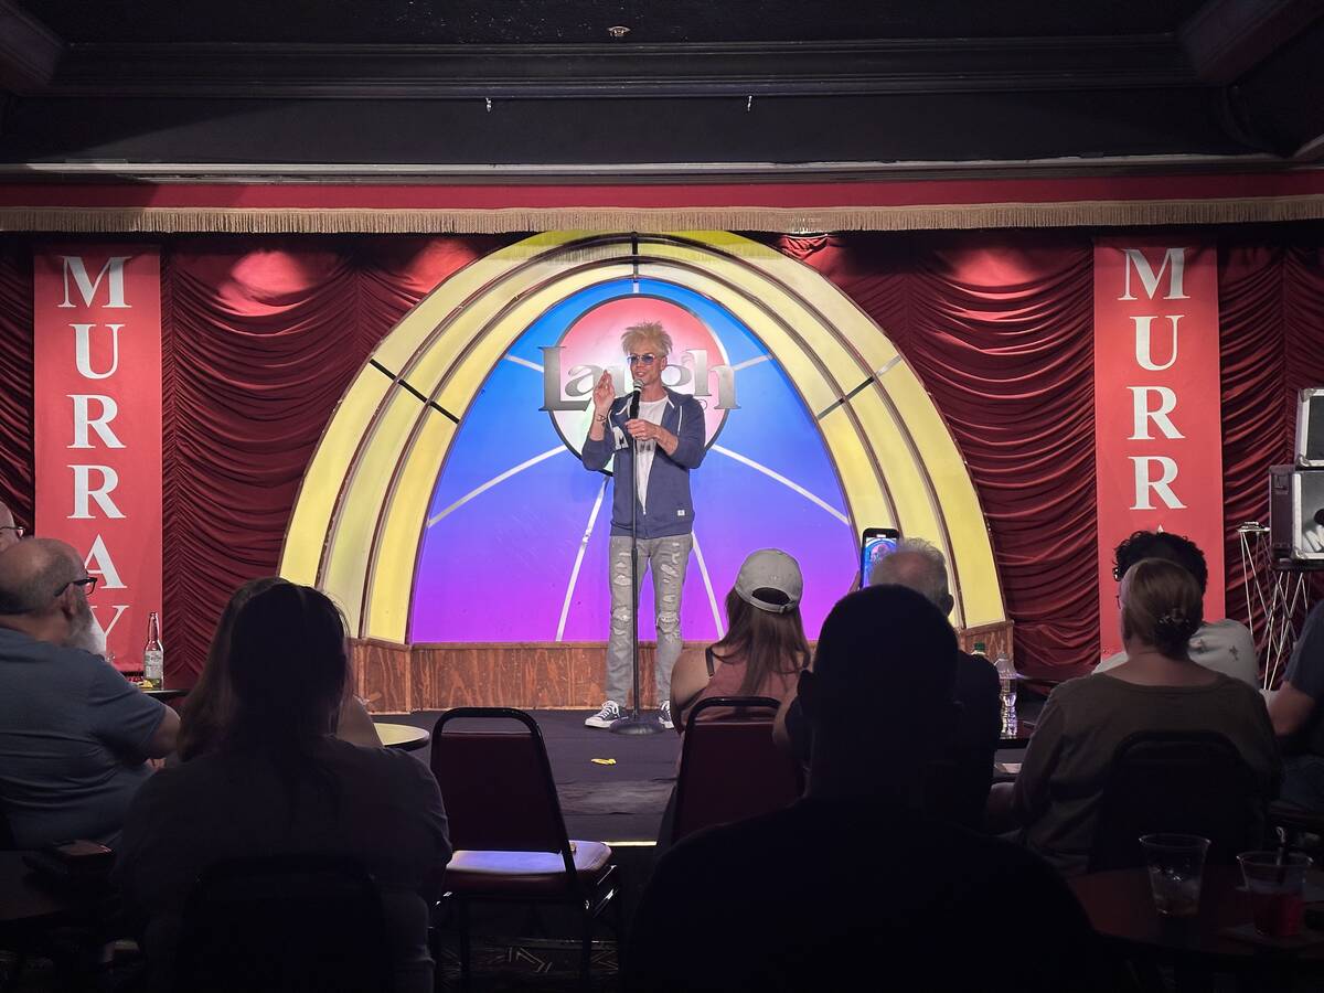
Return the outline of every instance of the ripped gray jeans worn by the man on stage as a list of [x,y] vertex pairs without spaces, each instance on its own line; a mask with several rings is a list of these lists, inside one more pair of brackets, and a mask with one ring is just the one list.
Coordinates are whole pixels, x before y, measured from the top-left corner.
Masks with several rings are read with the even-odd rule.
[[[690,535],[641,538],[638,543],[639,583],[653,568],[653,610],[657,618],[658,651],[654,682],[658,703],[671,696],[671,669],[681,655],[681,591],[685,567],[690,564]],[[606,643],[606,698],[625,707],[634,685],[630,667],[630,539],[612,535],[608,555],[608,583],[612,587],[612,638]]]

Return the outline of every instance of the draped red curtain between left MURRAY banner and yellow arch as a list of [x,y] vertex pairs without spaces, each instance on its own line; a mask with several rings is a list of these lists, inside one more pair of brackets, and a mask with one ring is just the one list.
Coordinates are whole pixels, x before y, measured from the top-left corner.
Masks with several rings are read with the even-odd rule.
[[277,571],[299,481],[376,343],[495,238],[179,238],[163,253],[166,616],[192,682],[241,583]]

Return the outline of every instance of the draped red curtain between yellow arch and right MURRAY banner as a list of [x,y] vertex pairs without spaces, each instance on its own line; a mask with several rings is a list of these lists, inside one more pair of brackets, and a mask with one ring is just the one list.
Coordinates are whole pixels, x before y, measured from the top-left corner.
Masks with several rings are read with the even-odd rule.
[[779,246],[887,332],[947,418],[992,530],[1017,665],[1061,678],[1092,662],[1090,237],[871,234]]

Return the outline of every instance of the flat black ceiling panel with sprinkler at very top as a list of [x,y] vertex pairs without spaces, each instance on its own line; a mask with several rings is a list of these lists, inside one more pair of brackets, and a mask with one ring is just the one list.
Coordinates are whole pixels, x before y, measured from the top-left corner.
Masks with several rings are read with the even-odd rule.
[[555,45],[1173,33],[1201,0],[25,0],[68,42]]

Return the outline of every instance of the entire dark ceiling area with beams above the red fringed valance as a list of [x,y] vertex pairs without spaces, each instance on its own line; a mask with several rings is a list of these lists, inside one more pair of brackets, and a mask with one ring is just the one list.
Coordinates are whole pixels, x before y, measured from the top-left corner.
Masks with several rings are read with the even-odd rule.
[[[1321,13],[1324,0],[0,0],[0,168],[1301,168],[1324,156]],[[614,25],[630,30],[613,40]]]

